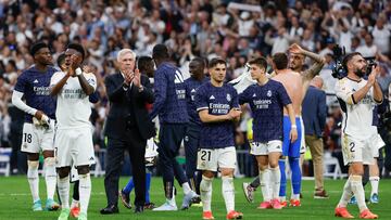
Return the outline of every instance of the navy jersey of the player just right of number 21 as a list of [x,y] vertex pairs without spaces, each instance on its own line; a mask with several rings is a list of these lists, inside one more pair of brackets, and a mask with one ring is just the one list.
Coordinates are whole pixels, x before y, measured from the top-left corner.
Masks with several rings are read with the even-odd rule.
[[282,140],[283,106],[292,103],[282,83],[268,80],[248,87],[239,95],[239,103],[249,103],[253,114],[254,142]]

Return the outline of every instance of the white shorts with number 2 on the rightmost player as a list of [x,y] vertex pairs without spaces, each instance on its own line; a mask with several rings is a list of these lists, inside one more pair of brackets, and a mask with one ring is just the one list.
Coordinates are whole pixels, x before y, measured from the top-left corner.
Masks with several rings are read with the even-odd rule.
[[344,165],[349,165],[354,161],[362,161],[365,165],[374,164],[370,140],[355,139],[343,133],[341,145]]

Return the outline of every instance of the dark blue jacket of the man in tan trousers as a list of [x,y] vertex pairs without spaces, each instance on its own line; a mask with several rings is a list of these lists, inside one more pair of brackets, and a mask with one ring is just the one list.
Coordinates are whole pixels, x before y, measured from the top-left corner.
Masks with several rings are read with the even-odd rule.
[[302,107],[305,134],[321,137],[327,116],[325,91],[310,86],[304,96]]

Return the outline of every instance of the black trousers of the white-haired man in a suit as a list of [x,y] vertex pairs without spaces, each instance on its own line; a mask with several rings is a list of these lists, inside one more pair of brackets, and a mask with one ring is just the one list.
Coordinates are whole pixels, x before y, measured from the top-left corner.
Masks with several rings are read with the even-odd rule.
[[117,206],[118,182],[124,160],[124,151],[129,151],[133,178],[135,181],[135,205],[143,206],[146,203],[146,145],[147,140],[142,139],[138,129],[127,129],[123,139],[108,140],[108,155],[104,177],[104,189],[108,197],[108,205]]

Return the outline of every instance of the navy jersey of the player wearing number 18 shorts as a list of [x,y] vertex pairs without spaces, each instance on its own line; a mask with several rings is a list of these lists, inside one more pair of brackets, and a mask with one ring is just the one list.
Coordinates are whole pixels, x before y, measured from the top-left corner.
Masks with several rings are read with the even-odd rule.
[[[28,106],[42,111],[52,119],[55,119],[56,101],[50,95],[50,79],[55,72],[55,68],[48,67],[48,70],[42,73],[33,66],[22,73],[14,88],[15,91],[24,93]],[[33,122],[33,116],[25,114],[25,121]]]

